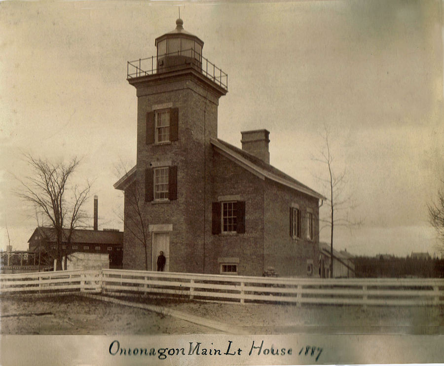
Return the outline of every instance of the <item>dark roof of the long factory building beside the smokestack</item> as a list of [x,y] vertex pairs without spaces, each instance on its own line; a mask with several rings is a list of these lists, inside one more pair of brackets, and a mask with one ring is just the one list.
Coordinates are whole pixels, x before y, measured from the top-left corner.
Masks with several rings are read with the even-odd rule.
[[[45,237],[48,242],[56,241],[56,232],[53,227],[37,227],[34,230],[34,236],[36,231]],[[68,236],[69,230],[64,229],[65,237]],[[28,243],[31,241],[28,240]],[[66,238],[63,238],[63,242],[66,242]],[[123,244],[123,231],[99,231],[99,230],[84,230],[74,229],[71,243],[76,244]]]

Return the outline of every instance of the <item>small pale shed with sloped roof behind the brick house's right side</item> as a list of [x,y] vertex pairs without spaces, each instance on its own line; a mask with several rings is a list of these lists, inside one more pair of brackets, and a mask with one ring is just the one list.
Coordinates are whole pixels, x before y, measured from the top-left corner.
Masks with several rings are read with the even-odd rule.
[[[329,243],[319,243],[320,249],[320,269],[319,275],[322,278],[330,278],[331,247]],[[355,264],[353,256],[345,251],[336,251],[333,249],[333,277],[334,278],[352,278],[355,277]]]

